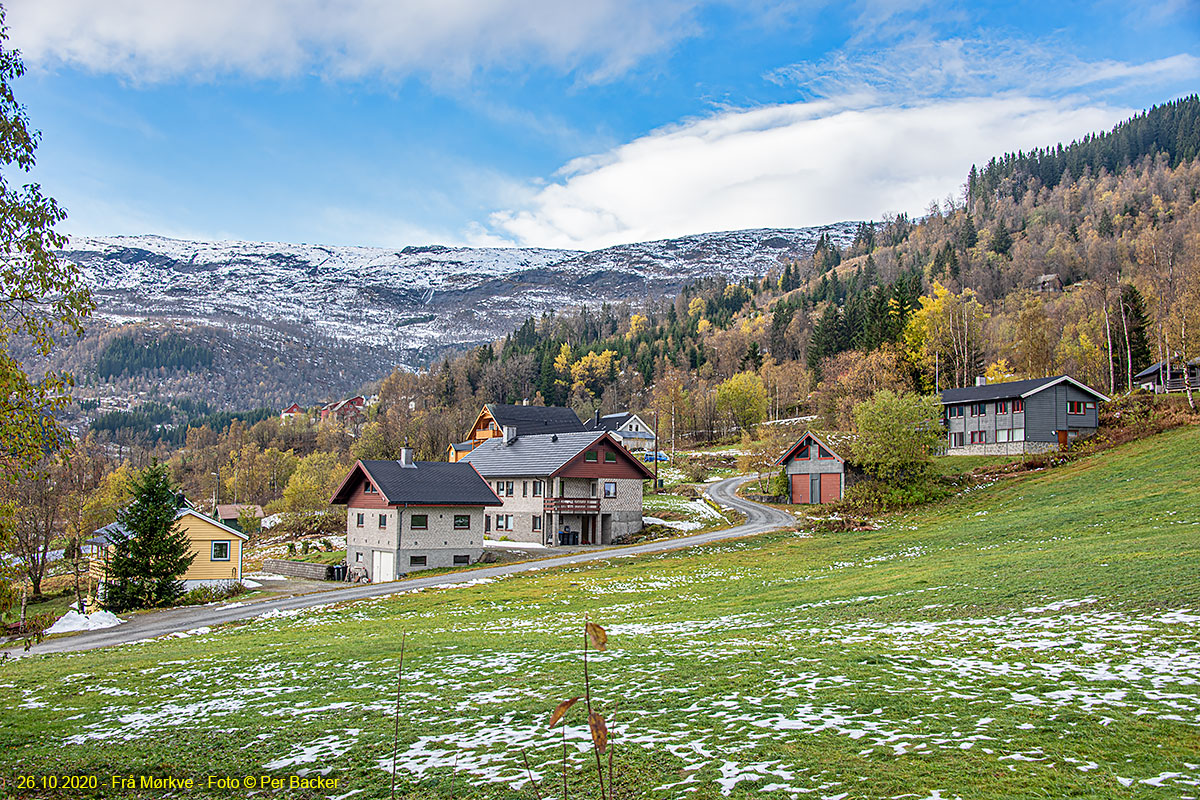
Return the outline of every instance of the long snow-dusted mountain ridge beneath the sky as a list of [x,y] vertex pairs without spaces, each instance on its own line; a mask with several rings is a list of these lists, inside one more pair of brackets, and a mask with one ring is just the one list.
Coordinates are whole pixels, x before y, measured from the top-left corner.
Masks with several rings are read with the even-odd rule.
[[415,366],[446,348],[492,341],[526,317],[647,295],[702,277],[764,275],[858,223],[697,234],[594,252],[438,245],[384,249],[162,236],[72,236],[114,321],[167,319],[235,331],[305,329],[385,348]]

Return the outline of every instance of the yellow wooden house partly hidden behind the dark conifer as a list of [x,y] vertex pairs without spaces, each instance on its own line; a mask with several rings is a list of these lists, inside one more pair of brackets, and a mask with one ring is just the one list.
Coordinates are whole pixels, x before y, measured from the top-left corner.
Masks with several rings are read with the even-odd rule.
[[[181,578],[185,591],[241,581],[242,545],[250,539],[246,534],[188,507],[180,509],[175,521],[187,536],[194,557]],[[119,522],[104,525],[86,542],[91,546],[88,573],[97,584],[104,583],[112,554],[109,536],[119,525]]]

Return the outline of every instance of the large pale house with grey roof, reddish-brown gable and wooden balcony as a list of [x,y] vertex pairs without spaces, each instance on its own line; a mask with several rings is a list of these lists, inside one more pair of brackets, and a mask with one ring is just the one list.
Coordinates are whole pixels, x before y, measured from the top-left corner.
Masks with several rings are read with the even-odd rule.
[[485,528],[493,539],[610,545],[642,529],[642,481],[653,473],[608,432],[524,437],[506,427],[460,463],[503,503]]

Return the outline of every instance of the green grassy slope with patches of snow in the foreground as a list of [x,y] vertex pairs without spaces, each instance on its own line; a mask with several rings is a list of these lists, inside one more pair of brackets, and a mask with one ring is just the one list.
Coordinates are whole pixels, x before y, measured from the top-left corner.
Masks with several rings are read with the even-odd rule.
[[[6,664],[0,774],[328,768],[355,798],[386,796],[407,631],[403,796],[529,798],[512,788],[521,747],[553,778],[544,722],[580,693],[589,612],[611,636],[593,676],[608,711],[620,703],[618,769],[636,787],[623,796],[1195,795],[1200,616],[1181,612],[1200,608],[1198,476],[1190,428],[866,534],[613,559]],[[588,762],[572,752],[581,796]]]

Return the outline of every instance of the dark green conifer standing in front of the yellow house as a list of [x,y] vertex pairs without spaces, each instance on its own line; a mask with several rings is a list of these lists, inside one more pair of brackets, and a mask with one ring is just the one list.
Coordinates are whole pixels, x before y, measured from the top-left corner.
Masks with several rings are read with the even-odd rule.
[[187,535],[175,521],[180,498],[166,464],[152,463],[130,483],[133,501],[116,517],[104,606],[113,610],[169,606],[192,565]]

